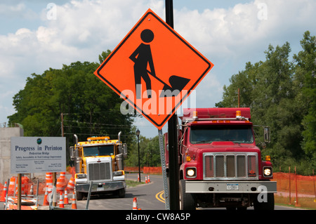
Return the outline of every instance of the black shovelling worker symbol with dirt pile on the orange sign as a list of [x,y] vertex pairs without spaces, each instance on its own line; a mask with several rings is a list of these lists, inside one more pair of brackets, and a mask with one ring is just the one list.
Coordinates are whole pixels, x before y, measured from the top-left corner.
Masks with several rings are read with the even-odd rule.
[[[151,98],[152,84],[148,74],[151,74],[152,77],[164,84],[164,88],[162,89],[162,93],[159,97],[178,95],[178,93],[183,90],[190,79],[173,75],[169,77],[169,83],[171,86],[162,81],[162,79],[159,79],[159,77],[157,77],[156,73],[154,72],[154,61],[152,60],[152,51],[150,49],[150,43],[154,40],[154,33],[150,29],[144,29],[140,33],[140,39],[144,43],[141,43],[129,57],[134,62],[136,98],[140,99],[142,95],[140,87],[142,78],[146,84],[147,97]],[[150,71],[147,70],[147,65],[149,65]]]

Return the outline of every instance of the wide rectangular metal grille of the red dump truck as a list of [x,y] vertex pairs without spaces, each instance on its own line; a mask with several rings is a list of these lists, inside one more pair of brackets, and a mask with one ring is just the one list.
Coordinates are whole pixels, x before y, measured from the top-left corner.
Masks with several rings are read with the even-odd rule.
[[204,180],[258,180],[256,152],[206,152]]

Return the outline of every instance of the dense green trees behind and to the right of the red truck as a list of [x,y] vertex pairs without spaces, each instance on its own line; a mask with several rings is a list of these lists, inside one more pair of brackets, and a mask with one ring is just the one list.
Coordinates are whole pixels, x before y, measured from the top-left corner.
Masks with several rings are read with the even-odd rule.
[[[289,60],[289,43],[268,46],[265,61],[247,62],[245,70],[232,75],[223,88],[218,107],[251,107],[254,124],[268,125],[271,143],[263,154],[270,154],[275,166],[301,166],[301,173],[315,168],[315,37],[305,32],[303,51]],[[309,173],[308,173],[309,172]]]

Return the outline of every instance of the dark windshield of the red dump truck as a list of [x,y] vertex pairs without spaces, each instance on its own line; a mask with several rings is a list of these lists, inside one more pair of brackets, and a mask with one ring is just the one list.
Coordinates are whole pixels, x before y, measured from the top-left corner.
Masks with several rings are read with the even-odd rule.
[[232,141],[234,143],[254,143],[251,126],[192,126],[190,143],[212,143]]

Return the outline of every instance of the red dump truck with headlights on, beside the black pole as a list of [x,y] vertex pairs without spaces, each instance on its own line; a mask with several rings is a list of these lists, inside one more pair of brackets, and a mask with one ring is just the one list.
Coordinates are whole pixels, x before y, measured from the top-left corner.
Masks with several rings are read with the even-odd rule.
[[[250,108],[184,109],[180,119],[180,209],[274,209],[277,183],[270,157],[261,158]],[[270,132],[267,126],[263,131],[265,145]],[[167,133],[164,140],[168,173]]]

